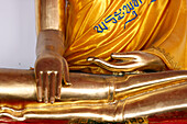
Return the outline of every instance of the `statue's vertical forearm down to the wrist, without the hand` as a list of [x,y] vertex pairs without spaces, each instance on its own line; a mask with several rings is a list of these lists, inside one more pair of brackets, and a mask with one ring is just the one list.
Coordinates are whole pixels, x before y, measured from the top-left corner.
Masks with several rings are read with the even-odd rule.
[[65,40],[65,0],[35,0],[36,55],[53,52],[63,55]]

